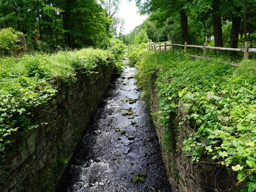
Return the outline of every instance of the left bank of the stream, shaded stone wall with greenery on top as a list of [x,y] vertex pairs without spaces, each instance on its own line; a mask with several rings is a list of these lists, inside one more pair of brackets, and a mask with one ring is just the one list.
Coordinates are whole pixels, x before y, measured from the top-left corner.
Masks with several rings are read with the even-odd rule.
[[54,189],[123,52],[1,59],[1,191]]

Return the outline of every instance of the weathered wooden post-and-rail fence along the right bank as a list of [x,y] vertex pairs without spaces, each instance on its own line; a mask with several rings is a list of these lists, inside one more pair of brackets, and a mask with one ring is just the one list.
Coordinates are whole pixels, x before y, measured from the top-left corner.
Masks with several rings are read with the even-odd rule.
[[[204,43],[204,46],[201,45],[188,45],[187,42],[182,44],[177,44],[177,43],[165,43],[165,44],[152,44],[148,45],[147,49],[148,50],[155,50],[155,51],[174,51],[174,46],[181,46],[184,47],[184,51],[187,51],[187,47],[192,47],[192,48],[199,48],[204,50],[204,57],[206,57],[206,50],[219,50],[219,51],[235,51],[235,52],[244,52],[244,59],[247,60],[249,59],[249,53],[256,53],[255,48],[250,48],[250,42],[245,42],[244,49],[236,49],[236,48],[227,48],[227,47],[213,47],[213,46],[207,46],[207,43]],[[163,47],[163,49],[161,48]],[[167,50],[167,47],[171,47],[170,50]],[[192,55],[196,56],[196,55]]]

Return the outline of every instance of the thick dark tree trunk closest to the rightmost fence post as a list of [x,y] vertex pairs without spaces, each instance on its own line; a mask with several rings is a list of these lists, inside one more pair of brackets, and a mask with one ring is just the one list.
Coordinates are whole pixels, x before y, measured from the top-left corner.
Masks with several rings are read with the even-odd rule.
[[238,47],[238,37],[239,37],[239,29],[240,29],[241,17],[232,17],[232,28],[230,32],[230,47],[237,48]]

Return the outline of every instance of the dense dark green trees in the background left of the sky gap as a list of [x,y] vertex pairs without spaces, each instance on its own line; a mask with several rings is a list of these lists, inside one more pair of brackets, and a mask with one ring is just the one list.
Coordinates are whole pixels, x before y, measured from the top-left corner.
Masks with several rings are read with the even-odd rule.
[[25,34],[30,50],[94,46],[116,35],[117,24],[121,22],[115,18],[119,2],[0,1],[0,28],[12,27]]

